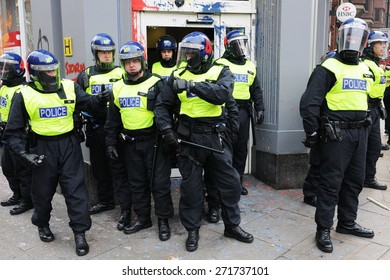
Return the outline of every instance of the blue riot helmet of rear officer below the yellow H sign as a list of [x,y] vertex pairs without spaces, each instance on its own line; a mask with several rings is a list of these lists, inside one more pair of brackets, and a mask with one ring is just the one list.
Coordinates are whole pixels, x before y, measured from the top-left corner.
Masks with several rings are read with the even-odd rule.
[[[115,43],[111,36],[105,33],[96,34],[91,41],[91,51],[96,66],[100,69],[113,69],[115,63]],[[98,52],[112,52],[112,61],[100,61]]]

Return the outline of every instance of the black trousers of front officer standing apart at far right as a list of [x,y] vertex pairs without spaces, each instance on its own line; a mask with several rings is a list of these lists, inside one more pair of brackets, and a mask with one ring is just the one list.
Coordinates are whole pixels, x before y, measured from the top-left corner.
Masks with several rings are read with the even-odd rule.
[[368,129],[341,129],[342,141],[320,142],[320,185],[315,221],[330,229],[337,219],[354,222],[363,188]]

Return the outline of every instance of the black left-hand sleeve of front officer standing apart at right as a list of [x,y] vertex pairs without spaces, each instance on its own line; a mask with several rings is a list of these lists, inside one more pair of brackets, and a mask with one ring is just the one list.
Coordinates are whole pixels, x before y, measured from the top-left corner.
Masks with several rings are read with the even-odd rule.
[[318,65],[310,75],[305,92],[303,93],[299,110],[306,134],[318,132],[321,125],[321,108],[326,94],[336,82],[336,77],[326,68]]

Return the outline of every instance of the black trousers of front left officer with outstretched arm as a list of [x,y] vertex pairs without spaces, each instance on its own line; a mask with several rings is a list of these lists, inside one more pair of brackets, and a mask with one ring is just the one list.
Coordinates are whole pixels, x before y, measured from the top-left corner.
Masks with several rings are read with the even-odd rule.
[[31,197],[35,209],[31,221],[38,227],[49,225],[51,201],[59,184],[70,228],[73,232],[85,232],[91,228],[91,218],[79,139],[74,134],[59,140],[47,139],[37,139],[36,146],[30,149],[30,153],[46,156],[43,166],[32,174]]

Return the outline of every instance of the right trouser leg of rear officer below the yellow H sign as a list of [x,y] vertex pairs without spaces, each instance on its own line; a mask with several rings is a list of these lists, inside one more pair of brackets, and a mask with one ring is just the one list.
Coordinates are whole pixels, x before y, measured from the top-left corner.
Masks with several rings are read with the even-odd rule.
[[121,209],[131,210],[133,200],[126,170],[124,142],[118,142],[116,149],[118,152],[118,159],[110,159],[109,161],[114,189]]

